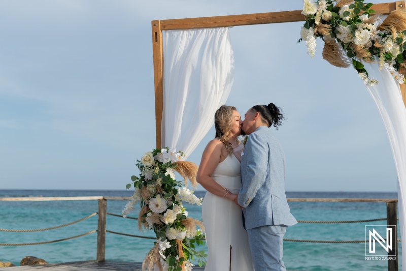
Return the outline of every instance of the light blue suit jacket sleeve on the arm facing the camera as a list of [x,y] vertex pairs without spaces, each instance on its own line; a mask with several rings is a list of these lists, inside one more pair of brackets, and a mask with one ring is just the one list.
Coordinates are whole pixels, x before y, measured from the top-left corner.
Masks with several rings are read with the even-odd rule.
[[251,134],[245,145],[244,155],[247,159],[247,168],[246,173],[242,175],[243,187],[238,196],[238,203],[245,208],[265,182],[268,164],[267,143],[257,134]]

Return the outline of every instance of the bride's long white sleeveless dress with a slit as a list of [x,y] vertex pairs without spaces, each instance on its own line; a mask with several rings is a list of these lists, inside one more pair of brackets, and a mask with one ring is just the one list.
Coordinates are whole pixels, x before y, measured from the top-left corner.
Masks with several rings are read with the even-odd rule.
[[[218,164],[212,178],[231,193],[239,193],[240,161],[234,155],[227,156]],[[201,208],[208,247],[205,271],[253,271],[242,209],[210,192],[206,193]]]

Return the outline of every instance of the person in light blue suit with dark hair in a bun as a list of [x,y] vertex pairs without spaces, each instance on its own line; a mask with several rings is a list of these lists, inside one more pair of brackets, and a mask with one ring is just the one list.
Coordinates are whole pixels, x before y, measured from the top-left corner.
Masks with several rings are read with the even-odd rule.
[[284,119],[275,104],[256,105],[245,114],[242,130],[249,135],[241,158],[241,205],[256,271],[285,271],[283,236],[297,223],[285,194],[285,155],[269,127]]

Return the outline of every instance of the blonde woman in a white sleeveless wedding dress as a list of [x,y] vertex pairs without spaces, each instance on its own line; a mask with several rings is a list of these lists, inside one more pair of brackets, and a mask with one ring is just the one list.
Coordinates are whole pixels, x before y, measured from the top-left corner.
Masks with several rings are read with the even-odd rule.
[[202,204],[208,258],[206,271],[253,271],[241,206],[241,116],[234,106],[221,106],[214,116],[216,138],[206,146],[197,182],[207,190]]

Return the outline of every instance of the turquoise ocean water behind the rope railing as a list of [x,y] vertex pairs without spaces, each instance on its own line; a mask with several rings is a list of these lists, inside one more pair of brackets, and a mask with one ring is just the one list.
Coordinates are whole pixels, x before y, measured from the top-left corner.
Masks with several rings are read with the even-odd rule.
[[[205,192],[196,195],[204,197]],[[66,191],[66,190],[0,190],[0,197],[60,196],[130,196],[131,191]],[[287,192],[288,198],[397,198],[396,193]],[[108,200],[107,212],[121,214],[126,201]],[[297,220],[344,221],[386,217],[386,203],[289,202]],[[189,216],[201,219],[201,208],[186,205]],[[136,217],[138,210],[130,216]],[[69,223],[97,212],[94,201],[0,201],[0,229],[38,229]],[[311,240],[364,240],[365,225],[384,225],[386,221],[351,224],[298,223],[288,227],[285,238]],[[15,233],[0,231],[0,243],[44,242],[79,235],[97,229],[97,216],[77,224],[42,232]],[[137,221],[107,216],[106,229],[154,236],[152,231],[139,232]],[[399,232],[399,231],[398,231]],[[399,233],[398,233],[399,234]],[[400,235],[398,235],[400,238]],[[0,246],[0,261],[19,265],[24,256],[36,256],[49,263],[94,260],[97,233],[59,243],[38,246]],[[399,269],[401,249],[399,245]],[[106,260],[144,260],[153,240],[106,233]],[[378,245],[379,247],[379,245]],[[206,246],[201,247],[207,249]],[[284,242],[286,267],[293,270],[387,270],[385,260],[365,260],[365,243],[320,244]]]

